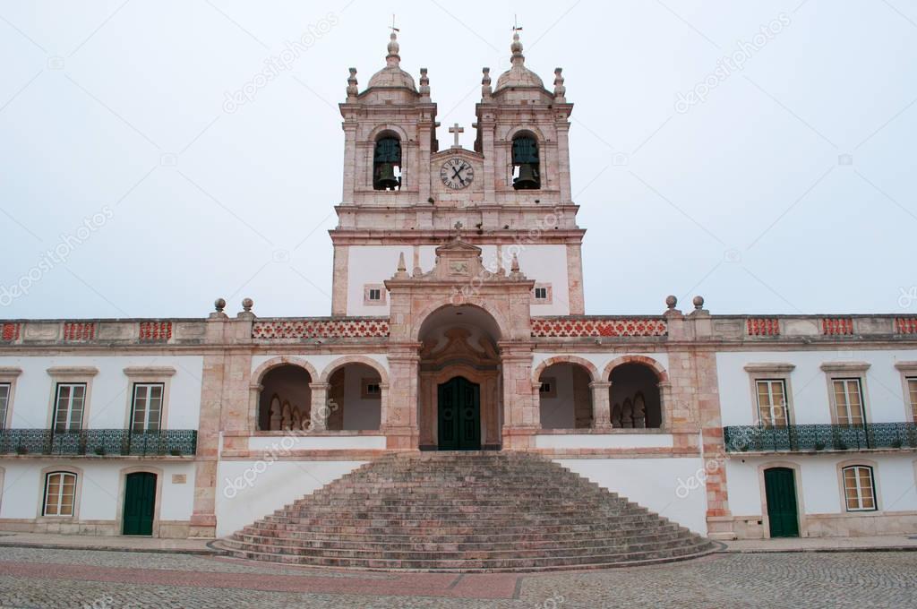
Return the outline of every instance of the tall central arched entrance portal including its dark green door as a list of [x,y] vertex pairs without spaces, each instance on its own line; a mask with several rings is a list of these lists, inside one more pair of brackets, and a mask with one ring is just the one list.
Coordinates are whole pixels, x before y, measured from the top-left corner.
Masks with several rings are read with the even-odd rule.
[[419,338],[420,449],[500,449],[496,321],[477,306],[447,305],[425,319]]

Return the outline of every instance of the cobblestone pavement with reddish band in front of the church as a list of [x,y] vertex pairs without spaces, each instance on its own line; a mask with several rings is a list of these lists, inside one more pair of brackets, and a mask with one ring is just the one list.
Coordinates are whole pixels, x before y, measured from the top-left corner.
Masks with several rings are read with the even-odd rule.
[[0,607],[917,607],[917,552],[721,554],[557,573],[359,573],[210,557],[0,548]]

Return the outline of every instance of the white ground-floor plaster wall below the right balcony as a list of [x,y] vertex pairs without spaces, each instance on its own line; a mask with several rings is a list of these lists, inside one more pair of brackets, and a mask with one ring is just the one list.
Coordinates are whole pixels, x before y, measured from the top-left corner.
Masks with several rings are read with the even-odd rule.
[[[837,475],[837,464],[862,458],[875,461],[873,468],[882,511],[900,512],[917,510],[915,467],[917,459],[912,454],[877,455],[856,453],[843,455],[805,455],[774,457],[746,457],[726,460],[726,487],[729,508],[735,516],[762,515],[764,489],[758,477],[758,467],[773,463],[796,463],[800,466],[797,477],[797,494],[801,492],[805,514],[842,514],[843,489]],[[868,463],[866,463],[868,465]]]

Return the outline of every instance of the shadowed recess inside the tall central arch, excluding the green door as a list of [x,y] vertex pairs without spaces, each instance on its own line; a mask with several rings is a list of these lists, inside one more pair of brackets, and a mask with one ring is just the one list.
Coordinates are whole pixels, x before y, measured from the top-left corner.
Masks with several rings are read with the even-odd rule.
[[418,330],[417,421],[421,450],[439,448],[439,387],[456,377],[480,387],[481,448],[502,447],[502,366],[497,352],[500,327],[484,309],[470,304],[439,307]]

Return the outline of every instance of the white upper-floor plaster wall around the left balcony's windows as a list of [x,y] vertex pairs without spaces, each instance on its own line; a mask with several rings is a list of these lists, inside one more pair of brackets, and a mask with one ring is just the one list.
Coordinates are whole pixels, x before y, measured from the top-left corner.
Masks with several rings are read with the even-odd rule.
[[189,356],[16,356],[0,358],[0,366],[22,369],[16,380],[11,408],[11,427],[49,428],[56,381],[48,369],[60,366],[90,366],[92,377],[88,404],[88,426],[96,429],[124,429],[130,417],[132,382],[124,369],[134,366],[171,366],[168,414],[163,427],[197,429],[201,410],[201,376],[204,358]]

